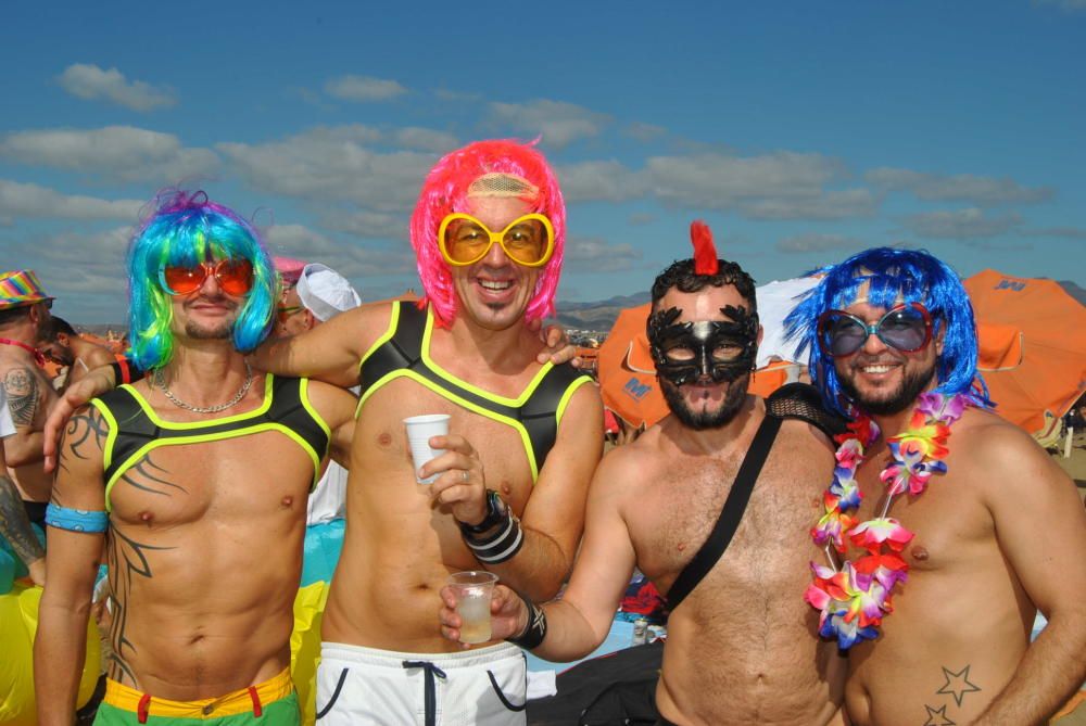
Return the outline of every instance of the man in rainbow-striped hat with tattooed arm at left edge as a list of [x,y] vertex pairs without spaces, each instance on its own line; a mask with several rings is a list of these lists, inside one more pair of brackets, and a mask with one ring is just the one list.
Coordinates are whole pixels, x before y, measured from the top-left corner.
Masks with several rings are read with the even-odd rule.
[[25,509],[22,514],[13,511],[9,497],[4,497],[2,518],[12,527],[4,534],[38,584],[46,581],[46,562],[25,522],[29,519],[45,527],[52,485],[52,477],[41,468],[41,432],[56,394],[41,368],[45,358],[35,344],[50,320],[53,300],[34,270],[0,272],[0,381],[15,424],[15,434],[4,441],[4,456],[21,499],[18,506]]

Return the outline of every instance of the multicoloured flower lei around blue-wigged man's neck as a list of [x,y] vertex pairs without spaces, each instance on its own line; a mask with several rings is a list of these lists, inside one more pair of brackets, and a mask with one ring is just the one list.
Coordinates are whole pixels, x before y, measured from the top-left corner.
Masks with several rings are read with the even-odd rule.
[[[825,549],[830,566],[811,562],[815,582],[804,599],[821,611],[819,635],[836,637],[843,650],[879,635],[883,615],[894,610],[894,586],[908,577],[909,564],[899,552],[913,533],[886,517],[891,501],[905,492],[922,494],[932,474],[946,473],[943,459],[948,453],[950,425],[973,405],[967,394],[924,393],[918,397],[909,426],[887,441],[894,461],[879,476],[887,487],[886,505],[877,518],[859,524],[849,513],[859,508],[862,498],[856,470],[863,462],[864,449],[877,441],[879,426],[870,417],[859,415],[848,424],[847,433],[836,436],[837,466],[822,497],[825,514],[811,527],[811,538]],[[855,562],[844,559],[841,569],[834,568],[830,546],[844,558],[848,543],[862,547],[867,555]]]

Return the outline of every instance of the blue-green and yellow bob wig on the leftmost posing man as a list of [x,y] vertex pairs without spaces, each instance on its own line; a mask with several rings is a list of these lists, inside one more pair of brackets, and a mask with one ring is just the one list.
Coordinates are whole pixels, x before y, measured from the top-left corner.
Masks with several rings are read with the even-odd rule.
[[255,348],[272,330],[276,277],[272,258],[252,226],[202,191],[164,192],[154,212],[139,226],[128,246],[127,356],[143,370],[162,368],[174,353],[171,330],[172,295],[163,290],[162,270],[190,267],[206,259],[248,259],[253,264],[253,288],[233,324],[233,346]]

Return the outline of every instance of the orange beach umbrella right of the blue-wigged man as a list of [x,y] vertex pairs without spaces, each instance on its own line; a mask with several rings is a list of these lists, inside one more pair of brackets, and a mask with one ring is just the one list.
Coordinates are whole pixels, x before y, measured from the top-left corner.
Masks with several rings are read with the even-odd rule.
[[1086,307],[1052,280],[984,270],[964,282],[996,412],[1038,440],[1058,433],[1086,392]]

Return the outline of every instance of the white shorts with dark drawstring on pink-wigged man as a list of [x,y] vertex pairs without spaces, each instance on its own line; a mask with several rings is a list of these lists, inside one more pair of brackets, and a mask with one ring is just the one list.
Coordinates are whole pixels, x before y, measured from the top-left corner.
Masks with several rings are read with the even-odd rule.
[[525,726],[528,666],[500,644],[460,653],[399,653],[320,644],[318,726]]

